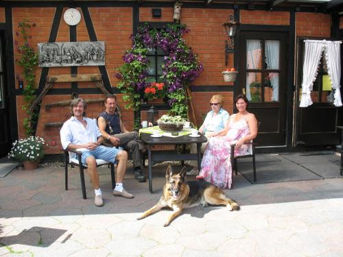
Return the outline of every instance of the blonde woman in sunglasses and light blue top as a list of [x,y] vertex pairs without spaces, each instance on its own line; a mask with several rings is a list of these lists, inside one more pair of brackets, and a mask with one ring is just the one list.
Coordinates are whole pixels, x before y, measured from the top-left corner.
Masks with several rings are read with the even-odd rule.
[[[226,121],[228,121],[228,112],[223,109],[224,97],[222,95],[213,95],[210,100],[211,111],[206,115],[204,123],[199,128],[199,132],[204,134],[206,138],[213,136],[215,132],[221,132],[224,130]],[[207,141],[208,142],[208,141]],[[201,152],[204,153],[206,143],[202,143]],[[191,154],[196,154],[196,144],[191,144]],[[187,175],[198,175],[198,161],[192,160],[190,166],[193,167],[191,171],[187,172]]]

